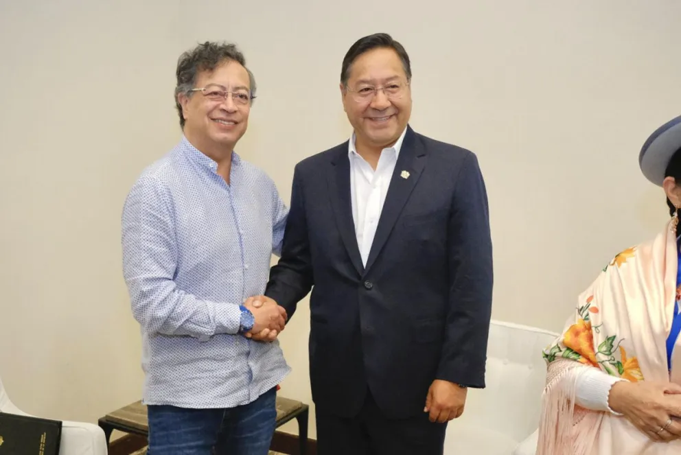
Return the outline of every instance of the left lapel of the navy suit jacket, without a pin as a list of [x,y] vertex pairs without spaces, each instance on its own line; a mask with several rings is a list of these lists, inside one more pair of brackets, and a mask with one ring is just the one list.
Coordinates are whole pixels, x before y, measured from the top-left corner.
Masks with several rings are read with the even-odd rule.
[[350,198],[350,161],[347,156],[347,142],[338,145],[338,150],[332,159],[332,166],[328,173],[329,194],[331,205],[336,216],[338,232],[341,233],[343,244],[347,249],[352,264],[362,275],[362,257],[357,245],[354,218],[352,216],[352,201]]

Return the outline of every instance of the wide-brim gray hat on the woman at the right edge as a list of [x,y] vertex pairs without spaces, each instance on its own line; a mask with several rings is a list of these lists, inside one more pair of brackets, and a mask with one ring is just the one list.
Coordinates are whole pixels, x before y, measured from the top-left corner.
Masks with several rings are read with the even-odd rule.
[[650,135],[638,154],[638,165],[645,178],[658,186],[674,153],[681,149],[681,116],[667,121]]

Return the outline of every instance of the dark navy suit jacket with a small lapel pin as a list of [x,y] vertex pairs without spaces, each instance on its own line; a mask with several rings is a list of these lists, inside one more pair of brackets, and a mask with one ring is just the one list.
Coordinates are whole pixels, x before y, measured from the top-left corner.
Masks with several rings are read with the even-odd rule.
[[[401,176],[408,172],[408,178]],[[389,417],[423,413],[435,379],[485,386],[492,241],[475,154],[408,127],[362,266],[348,143],[295,167],[266,295],[310,296],[310,382],[320,410],[356,415],[367,387]]]

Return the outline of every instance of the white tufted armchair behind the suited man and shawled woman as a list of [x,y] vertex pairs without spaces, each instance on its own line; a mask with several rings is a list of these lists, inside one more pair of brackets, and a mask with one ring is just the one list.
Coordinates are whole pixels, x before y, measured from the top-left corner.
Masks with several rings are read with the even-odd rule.
[[446,455],[534,455],[551,331],[492,321],[487,388],[469,389],[463,415],[450,421]]

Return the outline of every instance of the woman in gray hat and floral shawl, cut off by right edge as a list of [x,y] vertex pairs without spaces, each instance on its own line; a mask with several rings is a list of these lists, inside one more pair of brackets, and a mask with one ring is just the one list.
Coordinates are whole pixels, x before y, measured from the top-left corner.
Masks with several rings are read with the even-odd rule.
[[649,137],[639,163],[671,220],[603,268],[544,350],[537,455],[681,454],[681,117]]

